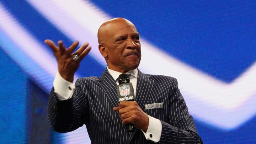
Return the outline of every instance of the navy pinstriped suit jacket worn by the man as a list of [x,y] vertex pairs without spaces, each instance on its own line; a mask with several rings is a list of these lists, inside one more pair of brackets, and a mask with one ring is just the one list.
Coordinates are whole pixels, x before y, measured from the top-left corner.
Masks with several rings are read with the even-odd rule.
[[[78,79],[75,86],[69,100],[58,101],[54,89],[50,92],[48,119],[55,131],[70,132],[86,124],[93,144],[153,143],[139,129],[129,134],[119,113],[113,111],[119,103],[116,82],[107,69],[100,78]],[[138,71],[135,101],[148,115],[160,119],[159,143],[202,143],[175,78]],[[163,108],[145,110],[146,104],[162,102]]]

